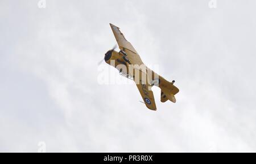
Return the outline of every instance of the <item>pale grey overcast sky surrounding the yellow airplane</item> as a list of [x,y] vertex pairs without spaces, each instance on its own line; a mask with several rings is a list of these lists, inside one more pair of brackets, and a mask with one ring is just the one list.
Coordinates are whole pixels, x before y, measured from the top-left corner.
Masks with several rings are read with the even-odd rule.
[[[0,1],[0,152],[256,152],[256,1],[46,2]],[[109,23],[176,103],[98,83]]]

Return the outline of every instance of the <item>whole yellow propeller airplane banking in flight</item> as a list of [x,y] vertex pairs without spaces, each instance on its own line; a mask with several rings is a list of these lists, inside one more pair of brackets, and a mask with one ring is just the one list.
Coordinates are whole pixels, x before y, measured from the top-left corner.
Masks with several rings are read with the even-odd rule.
[[135,81],[148,109],[156,110],[154,94],[151,90],[154,85],[161,89],[161,102],[170,100],[175,103],[176,98],[174,95],[179,92],[179,89],[174,86],[175,81],[169,82],[146,67],[133,45],[126,40],[119,28],[111,23],[110,27],[120,51],[115,51],[115,47],[107,51],[104,57],[105,62],[117,68],[121,75]]

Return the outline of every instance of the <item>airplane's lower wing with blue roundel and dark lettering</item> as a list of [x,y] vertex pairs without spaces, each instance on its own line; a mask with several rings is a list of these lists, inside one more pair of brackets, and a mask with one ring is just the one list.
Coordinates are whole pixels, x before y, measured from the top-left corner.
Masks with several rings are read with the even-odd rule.
[[[144,73],[141,71],[141,74]],[[151,86],[147,83],[147,80],[143,80],[142,76],[140,76],[139,81],[135,80],[135,82],[138,83],[136,85],[147,108],[151,110],[156,110],[154,94],[151,90]]]

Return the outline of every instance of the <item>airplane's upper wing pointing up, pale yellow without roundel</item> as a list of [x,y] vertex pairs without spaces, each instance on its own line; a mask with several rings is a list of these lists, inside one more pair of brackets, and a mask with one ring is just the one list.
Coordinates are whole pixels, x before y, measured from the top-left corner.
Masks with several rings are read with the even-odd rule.
[[129,41],[126,40],[123,33],[119,30],[119,27],[113,25],[110,23],[110,27],[114,33],[115,40],[117,40],[117,44],[119,46],[120,50],[123,50],[127,53],[127,57],[130,59],[131,64],[143,64],[141,57],[139,57],[139,54],[134,49],[133,45]]

